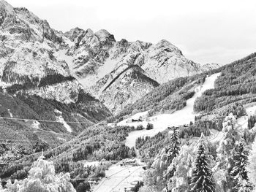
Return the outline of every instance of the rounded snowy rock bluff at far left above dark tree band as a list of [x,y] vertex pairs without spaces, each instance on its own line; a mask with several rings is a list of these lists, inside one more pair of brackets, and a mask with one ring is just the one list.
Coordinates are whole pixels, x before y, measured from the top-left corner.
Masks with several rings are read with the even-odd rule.
[[27,78],[38,85],[50,74],[70,75],[69,67],[53,56],[52,48],[39,42],[25,42],[15,47],[4,65],[1,81],[10,84],[25,83],[23,80]]

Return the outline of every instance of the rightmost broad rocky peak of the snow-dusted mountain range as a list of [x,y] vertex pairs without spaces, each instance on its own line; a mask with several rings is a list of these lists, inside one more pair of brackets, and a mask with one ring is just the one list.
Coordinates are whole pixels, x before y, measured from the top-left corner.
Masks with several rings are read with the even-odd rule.
[[199,64],[185,58],[181,50],[166,40],[146,50],[142,68],[159,83],[202,72]]

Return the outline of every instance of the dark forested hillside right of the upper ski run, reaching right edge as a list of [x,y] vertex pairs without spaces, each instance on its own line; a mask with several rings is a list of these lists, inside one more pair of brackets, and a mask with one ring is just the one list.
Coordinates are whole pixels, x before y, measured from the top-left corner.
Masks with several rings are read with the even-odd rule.
[[[248,104],[256,101],[256,53],[218,69],[215,88],[207,90],[195,101],[196,112],[211,112],[229,104]],[[234,114],[239,115],[239,114]]]

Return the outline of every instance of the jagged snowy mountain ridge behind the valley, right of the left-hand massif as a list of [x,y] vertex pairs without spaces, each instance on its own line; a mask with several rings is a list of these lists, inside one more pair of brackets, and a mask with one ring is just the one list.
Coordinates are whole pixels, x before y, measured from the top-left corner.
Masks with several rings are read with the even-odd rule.
[[[64,36],[75,43],[67,50],[67,55],[73,58],[69,65],[72,74],[113,113],[140,99],[159,83],[219,67],[195,64],[166,40],[157,45],[126,39],[116,42],[106,30],[94,33],[80,28]],[[138,72],[141,75],[132,75]]]

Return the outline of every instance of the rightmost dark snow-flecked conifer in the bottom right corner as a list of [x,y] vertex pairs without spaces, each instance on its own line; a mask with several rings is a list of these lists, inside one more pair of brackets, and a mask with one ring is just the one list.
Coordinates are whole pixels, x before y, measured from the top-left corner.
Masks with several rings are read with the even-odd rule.
[[248,164],[248,151],[244,147],[242,142],[236,147],[236,152],[233,156],[234,166],[230,175],[235,180],[235,191],[251,191],[252,185],[249,183],[249,177],[247,175],[246,166]]

